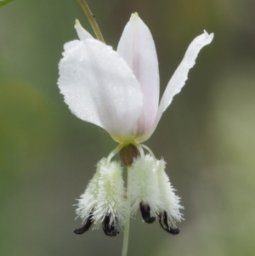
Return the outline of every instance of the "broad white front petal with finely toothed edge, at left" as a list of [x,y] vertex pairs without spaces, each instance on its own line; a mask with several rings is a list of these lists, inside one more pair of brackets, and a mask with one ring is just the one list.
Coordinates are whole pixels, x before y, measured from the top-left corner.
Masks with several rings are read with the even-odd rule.
[[71,112],[116,141],[133,139],[143,94],[125,60],[95,39],[65,43],[63,55],[58,85]]

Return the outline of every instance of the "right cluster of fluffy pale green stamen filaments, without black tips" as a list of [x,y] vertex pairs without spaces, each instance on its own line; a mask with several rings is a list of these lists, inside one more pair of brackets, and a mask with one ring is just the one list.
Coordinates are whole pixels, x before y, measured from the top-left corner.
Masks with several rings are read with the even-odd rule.
[[175,221],[182,219],[179,212],[180,198],[175,195],[173,186],[165,172],[166,162],[156,160],[155,157],[145,155],[133,162],[131,183],[128,195],[132,208],[136,213],[139,204],[150,206],[150,216],[166,212],[169,226],[175,226]]

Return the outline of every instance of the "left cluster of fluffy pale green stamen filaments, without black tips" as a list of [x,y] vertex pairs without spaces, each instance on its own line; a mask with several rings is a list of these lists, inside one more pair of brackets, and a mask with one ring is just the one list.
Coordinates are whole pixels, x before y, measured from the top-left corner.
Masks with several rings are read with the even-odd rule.
[[108,162],[106,158],[97,164],[93,179],[78,201],[77,215],[86,222],[93,210],[94,227],[98,228],[106,214],[109,225],[122,225],[127,211],[126,190],[120,162]]

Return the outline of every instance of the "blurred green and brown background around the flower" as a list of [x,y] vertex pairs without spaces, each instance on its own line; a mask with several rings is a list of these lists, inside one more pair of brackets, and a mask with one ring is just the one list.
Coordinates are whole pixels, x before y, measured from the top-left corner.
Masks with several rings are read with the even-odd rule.
[[[167,162],[184,205],[181,233],[132,219],[128,255],[254,255],[254,0],[88,0],[116,48],[137,11],[154,37],[161,94],[190,42],[214,32],[181,94],[145,144]],[[76,198],[94,165],[116,147],[103,129],[73,116],[56,85],[77,1],[17,0],[0,9],[1,255],[120,255],[102,230],[73,234]]]

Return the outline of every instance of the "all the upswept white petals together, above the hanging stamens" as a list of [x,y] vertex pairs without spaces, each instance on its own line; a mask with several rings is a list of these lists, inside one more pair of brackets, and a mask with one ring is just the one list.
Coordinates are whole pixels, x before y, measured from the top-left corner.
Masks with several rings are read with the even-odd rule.
[[205,31],[190,43],[159,104],[156,48],[138,14],[132,14],[117,51],[82,26],[76,28],[80,40],[65,43],[59,63],[60,92],[73,114],[104,128],[120,143],[150,138],[161,114],[184,86],[197,54],[213,37]]

